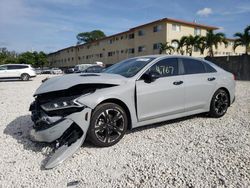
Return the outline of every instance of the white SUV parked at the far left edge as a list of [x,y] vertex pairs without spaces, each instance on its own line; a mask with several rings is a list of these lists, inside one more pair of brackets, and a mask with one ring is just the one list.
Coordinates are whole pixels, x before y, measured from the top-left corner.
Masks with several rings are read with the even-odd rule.
[[5,64],[0,65],[0,79],[11,79],[19,78],[21,80],[27,81],[31,77],[35,77],[36,72],[30,66],[26,64]]

